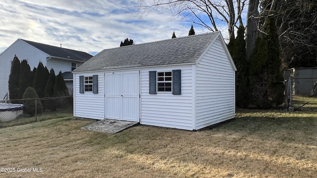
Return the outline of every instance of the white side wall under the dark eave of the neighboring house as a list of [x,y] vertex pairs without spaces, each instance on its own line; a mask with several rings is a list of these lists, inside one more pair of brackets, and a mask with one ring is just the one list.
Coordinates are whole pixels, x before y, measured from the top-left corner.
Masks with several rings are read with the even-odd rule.
[[55,75],[58,75],[59,71],[61,71],[61,73],[71,71],[70,65],[71,65],[71,61],[67,61],[67,60],[54,59],[54,58],[47,60],[47,68],[49,69],[49,71],[53,68]]

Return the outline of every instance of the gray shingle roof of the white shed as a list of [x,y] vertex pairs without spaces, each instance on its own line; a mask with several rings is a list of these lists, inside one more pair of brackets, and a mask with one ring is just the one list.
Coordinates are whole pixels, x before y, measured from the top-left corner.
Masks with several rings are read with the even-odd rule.
[[194,63],[218,33],[104,49],[73,72]]

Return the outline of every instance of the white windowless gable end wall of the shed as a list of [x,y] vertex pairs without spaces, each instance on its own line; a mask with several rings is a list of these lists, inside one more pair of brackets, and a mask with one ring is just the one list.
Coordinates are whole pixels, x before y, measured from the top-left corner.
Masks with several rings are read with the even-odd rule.
[[219,39],[196,67],[196,130],[234,118],[235,71]]

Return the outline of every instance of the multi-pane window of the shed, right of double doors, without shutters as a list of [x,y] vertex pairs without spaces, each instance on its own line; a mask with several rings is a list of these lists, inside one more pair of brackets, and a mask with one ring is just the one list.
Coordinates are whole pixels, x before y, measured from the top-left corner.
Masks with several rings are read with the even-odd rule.
[[158,72],[158,91],[172,91],[172,72]]

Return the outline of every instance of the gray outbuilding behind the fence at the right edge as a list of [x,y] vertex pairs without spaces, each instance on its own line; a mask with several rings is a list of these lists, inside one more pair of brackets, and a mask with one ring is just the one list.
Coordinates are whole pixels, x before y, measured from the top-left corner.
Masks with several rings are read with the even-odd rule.
[[311,95],[317,81],[317,67],[284,70],[284,80],[292,77],[293,95]]

